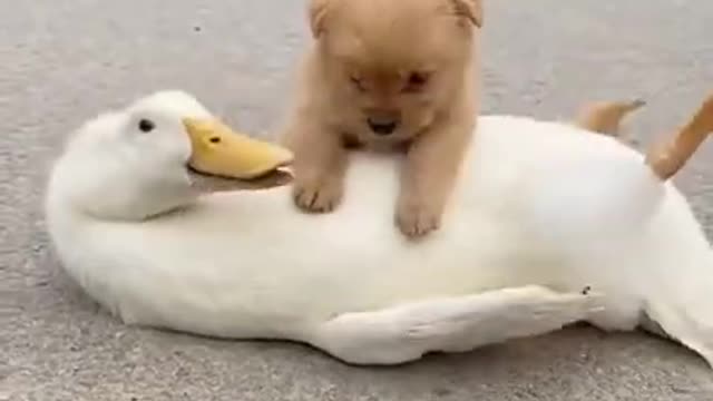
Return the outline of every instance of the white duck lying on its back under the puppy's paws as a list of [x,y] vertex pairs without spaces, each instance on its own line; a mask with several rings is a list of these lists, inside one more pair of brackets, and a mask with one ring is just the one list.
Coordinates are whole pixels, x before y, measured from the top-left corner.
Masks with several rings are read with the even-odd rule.
[[713,363],[713,254],[666,180],[712,128],[713,98],[646,159],[575,125],[484,116],[443,227],[410,243],[391,224],[391,155],[354,155],[328,215],[294,209],[289,186],[201,194],[188,165],[251,178],[291,155],[165,91],[71,137],[47,223],[65,268],[127,324],[392,364],[648,317]]

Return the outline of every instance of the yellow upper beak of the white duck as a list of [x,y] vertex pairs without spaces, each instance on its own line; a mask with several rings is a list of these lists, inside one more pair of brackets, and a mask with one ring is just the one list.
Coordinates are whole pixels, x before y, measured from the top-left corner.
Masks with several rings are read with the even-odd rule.
[[191,137],[188,165],[196,172],[252,179],[292,163],[292,153],[279,145],[233,131],[219,120],[186,118]]

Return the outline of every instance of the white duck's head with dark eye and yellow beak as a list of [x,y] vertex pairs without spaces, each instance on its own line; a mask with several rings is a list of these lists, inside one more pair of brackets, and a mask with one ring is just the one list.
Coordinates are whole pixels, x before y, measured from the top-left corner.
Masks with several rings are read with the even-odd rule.
[[195,200],[201,175],[254,179],[292,162],[231,130],[194,97],[160,91],[86,123],[59,157],[49,198],[104,219],[143,219]]

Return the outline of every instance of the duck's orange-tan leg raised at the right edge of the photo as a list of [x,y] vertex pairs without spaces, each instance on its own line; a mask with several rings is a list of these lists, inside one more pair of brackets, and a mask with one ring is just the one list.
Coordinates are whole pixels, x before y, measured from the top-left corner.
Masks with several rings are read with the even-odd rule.
[[693,156],[703,140],[713,133],[713,94],[697,113],[682,126],[671,141],[655,144],[646,154],[646,165],[666,180],[673,177]]

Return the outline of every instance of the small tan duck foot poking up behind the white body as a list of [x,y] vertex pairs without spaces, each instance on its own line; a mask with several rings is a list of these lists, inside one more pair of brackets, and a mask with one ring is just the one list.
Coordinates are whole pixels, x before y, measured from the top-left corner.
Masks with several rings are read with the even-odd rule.
[[642,99],[590,102],[582,107],[574,123],[577,127],[618,138],[624,117],[645,105]]

